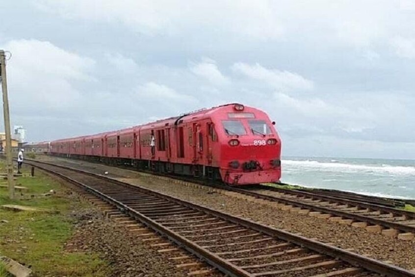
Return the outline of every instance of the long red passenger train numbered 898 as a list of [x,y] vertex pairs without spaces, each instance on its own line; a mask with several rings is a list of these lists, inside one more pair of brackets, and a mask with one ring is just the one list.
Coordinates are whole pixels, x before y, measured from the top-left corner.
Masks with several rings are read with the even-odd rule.
[[52,155],[231,185],[276,182],[281,177],[281,140],[274,124],[256,108],[226,104],[118,131],[56,140],[48,147]]

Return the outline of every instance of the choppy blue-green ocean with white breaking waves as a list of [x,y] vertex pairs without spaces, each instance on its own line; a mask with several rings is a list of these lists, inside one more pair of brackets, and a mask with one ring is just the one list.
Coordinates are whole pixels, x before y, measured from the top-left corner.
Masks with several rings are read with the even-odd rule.
[[288,184],[415,199],[415,160],[285,157],[282,170]]

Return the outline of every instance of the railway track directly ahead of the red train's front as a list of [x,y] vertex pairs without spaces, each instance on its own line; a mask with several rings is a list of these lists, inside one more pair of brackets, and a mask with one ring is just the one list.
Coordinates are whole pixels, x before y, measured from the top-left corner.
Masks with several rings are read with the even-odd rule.
[[281,203],[285,205],[284,209],[293,212],[329,218],[356,227],[365,227],[369,231],[382,232],[404,240],[412,240],[415,237],[415,213],[413,212],[267,185],[229,189],[259,199]]

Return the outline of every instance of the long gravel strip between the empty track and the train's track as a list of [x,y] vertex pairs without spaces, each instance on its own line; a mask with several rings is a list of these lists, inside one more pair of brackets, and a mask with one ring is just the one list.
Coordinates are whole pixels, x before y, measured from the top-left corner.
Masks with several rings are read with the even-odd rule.
[[202,204],[229,214],[242,216],[268,226],[285,229],[308,238],[330,243],[334,246],[349,249],[395,265],[415,268],[415,242],[401,241],[382,234],[368,232],[364,228],[342,225],[330,220],[319,219],[308,215],[291,213],[278,209],[269,201],[263,201],[232,192],[216,191],[201,186],[175,183],[172,180],[144,176],[130,170],[108,167],[95,163],[47,157],[59,164],[101,173],[119,178],[131,184],[138,184],[159,192]]

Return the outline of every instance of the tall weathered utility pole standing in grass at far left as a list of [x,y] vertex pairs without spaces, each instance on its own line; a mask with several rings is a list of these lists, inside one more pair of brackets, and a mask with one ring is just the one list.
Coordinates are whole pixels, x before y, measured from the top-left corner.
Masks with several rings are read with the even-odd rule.
[[9,197],[14,199],[14,180],[13,180],[13,160],[11,151],[11,133],[10,133],[10,114],[9,99],[7,96],[7,78],[6,78],[6,55],[4,50],[0,50],[0,81],[3,91],[3,113],[4,113],[4,131],[6,132],[6,169],[7,182],[9,185]]

